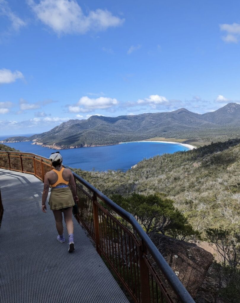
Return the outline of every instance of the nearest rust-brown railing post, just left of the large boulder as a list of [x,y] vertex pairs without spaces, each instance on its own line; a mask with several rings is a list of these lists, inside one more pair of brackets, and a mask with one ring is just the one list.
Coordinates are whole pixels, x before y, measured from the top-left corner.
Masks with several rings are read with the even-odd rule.
[[144,242],[139,246],[139,265],[140,265],[140,279],[141,279],[141,302],[150,303],[150,289],[149,289],[149,274],[147,264],[144,261],[144,255],[147,255],[147,248]]

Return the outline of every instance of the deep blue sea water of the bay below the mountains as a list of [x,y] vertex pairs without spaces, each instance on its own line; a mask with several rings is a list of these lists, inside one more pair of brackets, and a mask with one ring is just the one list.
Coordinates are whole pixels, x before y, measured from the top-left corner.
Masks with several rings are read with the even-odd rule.
[[[32,134],[25,134],[25,136],[30,135]],[[0,136],[0,140],[9,137],[10,135]],[[32,145],[31,143],[32,142],[18,142],[7,143],[6,145],[46,158],[48,158],[52,152],[56,151],[40,145]],[[137,164],[144,158],[148,159],[155,155],[171,154],[176,151],[186,150],[188,150],[188,148],[179,144],[125,142],[117,145],[63,149],[60,153],[63,156],[63,164],[73,168],[81,168],[86,171],[107,171],[109,169],[127,171],[131,166]]]

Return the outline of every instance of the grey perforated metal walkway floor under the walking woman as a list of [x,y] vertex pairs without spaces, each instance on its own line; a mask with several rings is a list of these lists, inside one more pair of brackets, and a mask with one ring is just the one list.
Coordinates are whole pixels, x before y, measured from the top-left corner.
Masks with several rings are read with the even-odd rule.
[[[1,303],[127,303],[83,228],[74,219],[75,251],[56,240],[52,211],[41,211],[43,184],[0,169]],[[64,226],[65,238],[68,238]]]

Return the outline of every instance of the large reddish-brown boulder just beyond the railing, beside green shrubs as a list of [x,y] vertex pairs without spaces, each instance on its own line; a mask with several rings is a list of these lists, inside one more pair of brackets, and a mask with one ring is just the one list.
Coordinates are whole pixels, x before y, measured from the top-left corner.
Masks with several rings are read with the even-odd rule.
[[155,235],[153,241],[194,298],[212,264],[213,255],[193,243],[179,241],[164,235]]

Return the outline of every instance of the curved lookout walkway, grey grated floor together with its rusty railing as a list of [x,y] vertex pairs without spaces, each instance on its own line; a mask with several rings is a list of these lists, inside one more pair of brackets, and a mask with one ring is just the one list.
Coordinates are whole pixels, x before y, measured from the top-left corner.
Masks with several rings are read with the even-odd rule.
[[39,155],[0,151],[1,303],[194,303],[133,215],[74,172],[79,201],[69,254],[48,203],[41,210],[51,169]]

